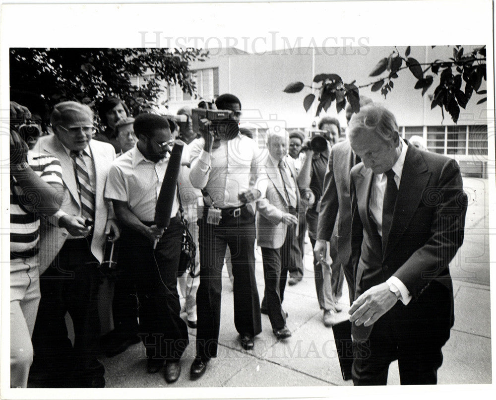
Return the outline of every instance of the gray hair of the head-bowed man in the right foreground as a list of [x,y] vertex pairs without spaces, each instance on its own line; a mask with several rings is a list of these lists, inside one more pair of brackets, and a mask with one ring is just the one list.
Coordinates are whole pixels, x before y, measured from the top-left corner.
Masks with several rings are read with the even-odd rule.
[[351,117],[348,125],[349,136],[376,133],[384,142],[390,143],[398,137],[398,124],[393,113],[376,103],[360,109]]

